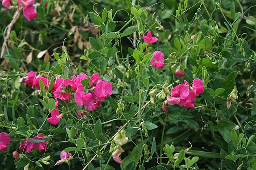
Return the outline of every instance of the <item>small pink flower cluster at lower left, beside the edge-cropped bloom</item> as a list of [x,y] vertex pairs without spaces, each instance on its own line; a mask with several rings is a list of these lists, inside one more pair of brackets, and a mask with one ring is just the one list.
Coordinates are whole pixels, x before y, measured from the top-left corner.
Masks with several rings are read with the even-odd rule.
[[45,138],[47,137],[42,134],[39,134],[34,138],[26,139],[22,144],[20,144],[19,149],[20,151],[26,151],[27,153],[30,153],[35,148],[40,151],[44,151],[47,149],[46,148],[46,145],[48,145],[47,141],[34,143],[34,142],[30,142],[30,140],[44,140]]

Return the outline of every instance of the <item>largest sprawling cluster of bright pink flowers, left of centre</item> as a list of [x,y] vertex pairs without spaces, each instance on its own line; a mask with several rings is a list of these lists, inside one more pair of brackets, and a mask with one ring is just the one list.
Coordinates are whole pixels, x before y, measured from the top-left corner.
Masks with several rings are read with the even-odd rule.
[[[86,74],[78,76],[72,76],[72,79],[57,78],[51,87],[51,92],[54,94],[55,109],[51,111],[51,117],[48,118],[48,122],[52,125],[56,125],[60,122],[62,114],[60,114],[58,105],[62,101],[76,101],[78,106],[84,106],[88,111],[96,110],[101,101],[107,99],[108,95],[113,93],[112,84],[100,79],[100,74],[96,73],[91,76],[89,85],[87,88],[88,93],[85,93],[84,86],[81,81],[87,79]],[[33,71],[30,71],[27,77],[23,77],[20,82],[25,82],[29,87],[40,89],[39,81],[42,81],[45,88],[49,85],[49,80],[42,76],[37,76]],[[72,95],[73,94],[73,95]],[[73,97],[74,96],[74,97]],[[77,111],[78,115],[82,114],[87,116],[83,111]]]

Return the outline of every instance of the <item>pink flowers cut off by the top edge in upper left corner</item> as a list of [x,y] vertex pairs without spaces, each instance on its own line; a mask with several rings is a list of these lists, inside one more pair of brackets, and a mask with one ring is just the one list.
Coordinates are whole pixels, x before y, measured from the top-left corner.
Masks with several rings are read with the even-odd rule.
[[[2,5],[7,9],[11,8],[12,0],[0,0]],[[23,15],[28,20],[35,19],[37,17],[37,13],[34,9],[34,0],[17,0],[20,7],[23,8]]]

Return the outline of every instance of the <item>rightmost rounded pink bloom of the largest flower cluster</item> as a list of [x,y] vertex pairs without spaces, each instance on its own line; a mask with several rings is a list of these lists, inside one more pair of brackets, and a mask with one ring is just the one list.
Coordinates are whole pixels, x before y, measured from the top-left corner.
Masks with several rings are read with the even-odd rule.
[[113,93],[111,82],[98,82],[94,89],[94,94],[101,100],[106,100],[108,95]]

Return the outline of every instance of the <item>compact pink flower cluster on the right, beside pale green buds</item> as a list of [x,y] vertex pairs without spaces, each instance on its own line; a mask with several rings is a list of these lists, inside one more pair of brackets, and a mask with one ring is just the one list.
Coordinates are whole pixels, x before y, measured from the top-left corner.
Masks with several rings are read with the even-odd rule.
[[193,80],[192,87],[185,80],[185,84],[179,84],[172,88],[172,92],[167,97],[169,105],[179,104],[186,108],[194,108],[195,96],[199,96],[204,88],[202,80],[196,78]]

